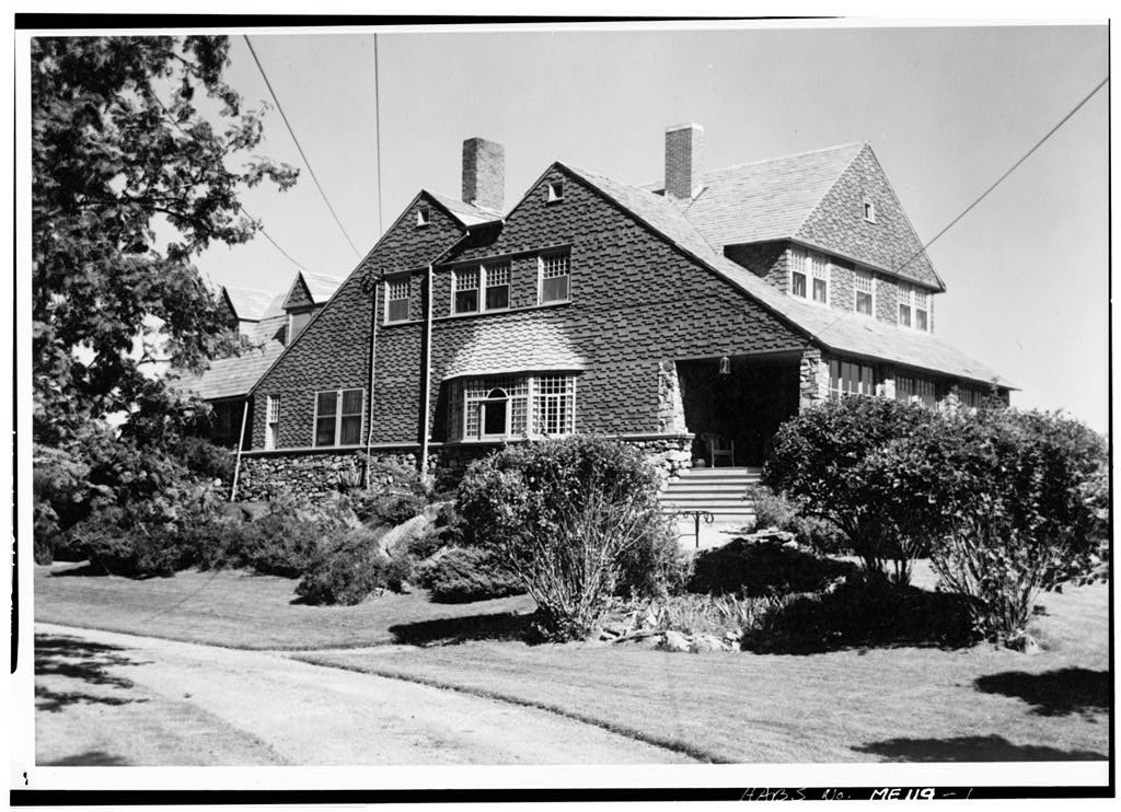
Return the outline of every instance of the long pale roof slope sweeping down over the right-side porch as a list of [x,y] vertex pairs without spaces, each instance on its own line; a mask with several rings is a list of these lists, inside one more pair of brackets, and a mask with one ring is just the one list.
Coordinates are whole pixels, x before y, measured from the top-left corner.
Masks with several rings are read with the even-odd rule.
[[901,328],[868,316],[810,305],[786,296],[742,265],[716,253],[700,230],[686,218],[685,212],[661,195],[569,165],[558,166],[583,179],[678,249],[826,348],[1011,388],[995,371],[930,333]]

